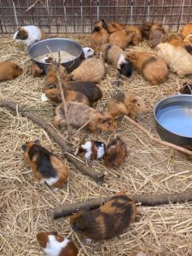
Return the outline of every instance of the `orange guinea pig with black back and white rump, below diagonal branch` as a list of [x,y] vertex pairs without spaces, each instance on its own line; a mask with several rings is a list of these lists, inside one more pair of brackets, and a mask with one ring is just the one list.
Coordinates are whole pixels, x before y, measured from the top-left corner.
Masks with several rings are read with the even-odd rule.
[[68,177],[67,166],[55,154],[43,148],[38,140],[27,142],[22,149],[38,181],[47,183],[53,191],[60,189]]

